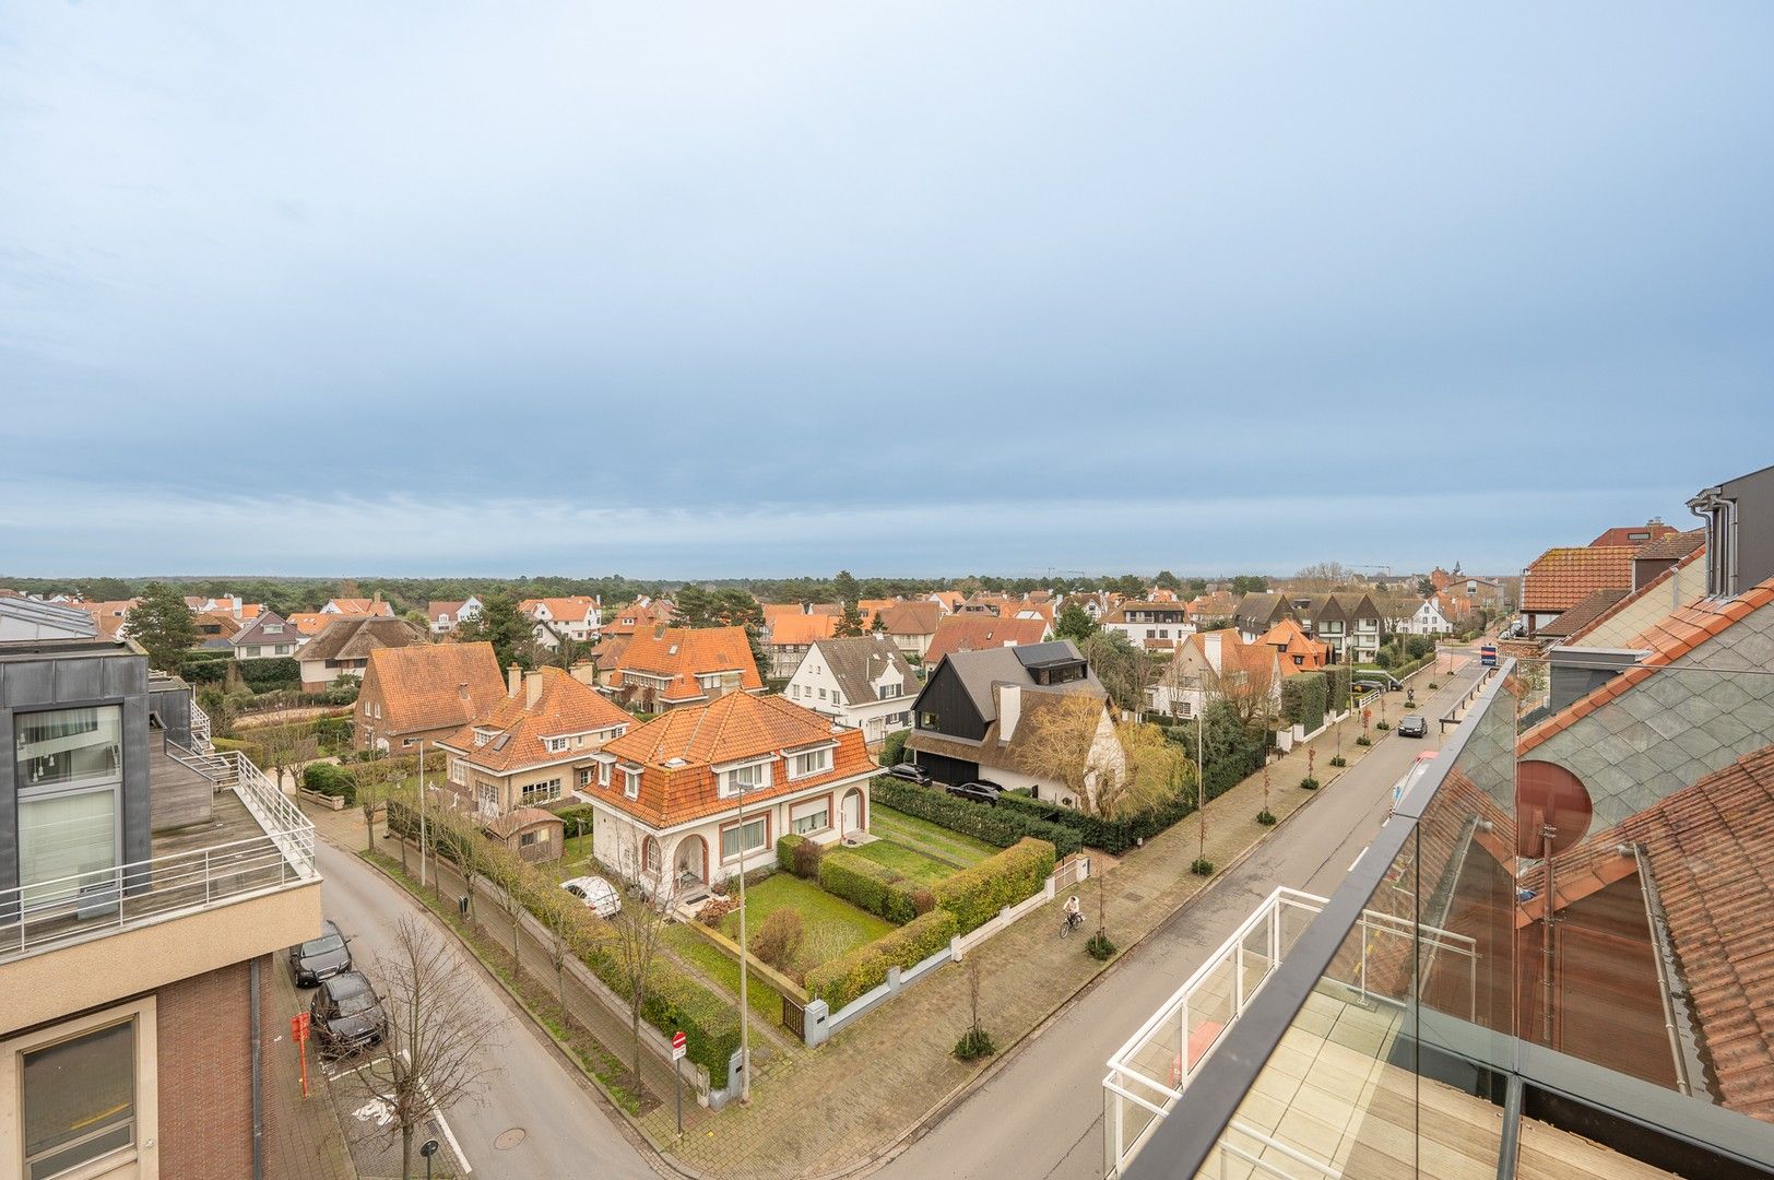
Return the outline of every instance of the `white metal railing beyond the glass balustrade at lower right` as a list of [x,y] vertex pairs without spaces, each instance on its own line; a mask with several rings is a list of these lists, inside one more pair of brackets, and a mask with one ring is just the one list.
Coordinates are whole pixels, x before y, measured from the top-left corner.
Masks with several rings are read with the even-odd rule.
[[[1103,1155],[1107,1175],[1121,1168],[1146,1145],[1158,1123],[1176,1107],[1190,1079],[1213,1054],[1226,1029],[1244,1015],[1251,997],[1274,976],[1304,926],[1290,932],[1286,917],[1316,917],[1325,898],[1279,887],[1221,944],[1199,969],[1151,1015],[1146,1024],[1109,1058],[1103,1077]],[[1401,1004],[1398,995],[1368,987],[1368,956],[1377,937],[1407,939],[1430,953],[1462,955],[1469,964],[1469,992],[1478,1003],[1478,942],[1467,935],[1425,926],[1407,917],[1364,909],[1352,932],[1361,932],[1361,949],[1352,992],[1387,1004]],[[1252,946],[1252,940],[1258,946]],[[1252,972],[1252,967],[1256,969]],[[1224,979],[1226,974],[1231,979]],[[1254,976],[1254,978],[1252,978]],[[1336,1175],[1336,1173],[1327,1173]]]

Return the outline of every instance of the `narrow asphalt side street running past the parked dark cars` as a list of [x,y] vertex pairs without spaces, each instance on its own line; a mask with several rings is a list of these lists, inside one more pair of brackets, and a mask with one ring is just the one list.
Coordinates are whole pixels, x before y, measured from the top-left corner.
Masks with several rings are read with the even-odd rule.
[[[326,916],[351,935],[353,958],[369,965],[378,953],[392,948],[399,917],[424,910],[355,855],[325,841],[316,845]],[[444,930],[438,937],[451,939]],[[451,946],[456,948],[452,939]],[[374,978],[373,967],[369,974]],[[483,1003],[509,1008],[504,990],[479,967],[465,962],[461,974]],[[444,1113],[474,1168],[472,1176],[564,1180],[656,1175],[585,1084],[555,1059],[529,1017],[511,1010],[502,1027],[504,1042],[484,1049],[484,1061],[497,1074],[490,1077],[483,1100],[458,1102]],[[522,1141],[507,1150],[495,1148],[493,1141],[513,1127],[523,1130]]]

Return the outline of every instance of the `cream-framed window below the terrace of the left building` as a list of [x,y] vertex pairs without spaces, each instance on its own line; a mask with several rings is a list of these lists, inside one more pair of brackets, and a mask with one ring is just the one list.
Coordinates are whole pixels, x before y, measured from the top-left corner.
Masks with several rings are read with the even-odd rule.
[[135,1145],[135,1020],[20,1058],[25,1175],[30,1180]]

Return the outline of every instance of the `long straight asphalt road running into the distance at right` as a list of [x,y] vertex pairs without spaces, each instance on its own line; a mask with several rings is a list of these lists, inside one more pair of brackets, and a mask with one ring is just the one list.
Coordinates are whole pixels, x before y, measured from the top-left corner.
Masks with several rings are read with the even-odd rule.
[[[1393,784],[1417,754],[1440,747],[1435,719],[1453,708],[1481,671],[1472,660],[1423,703],[1421,712],[1430,719],[1428,738],[1389,736],[1380,742],[1244,864],[1116,964],[1095,990],[1025,1042],[1006,1068],[882,1171],[907,1178],[1102,1176],[1102,1079],[1109,1056],[1277,885],[1318,896],[1336,891],[1385,822]],[[1396,696],[1387,701],[1393,720],[1403,713],[1400,701]]]

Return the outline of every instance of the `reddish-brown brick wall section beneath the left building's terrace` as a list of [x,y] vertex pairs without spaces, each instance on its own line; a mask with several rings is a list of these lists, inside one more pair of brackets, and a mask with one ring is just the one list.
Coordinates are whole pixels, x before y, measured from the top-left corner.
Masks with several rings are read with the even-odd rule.
[[[261,1082],[270,1093],[275,1038],[273,956],[259,960]],[[160,1175],[239,1180],[252,1175],[250,965],[222,967],[160,988]],[[263,1109],[271,1134],[270,1102]],[[266,1159],[266,1176],[277,1175]]]

